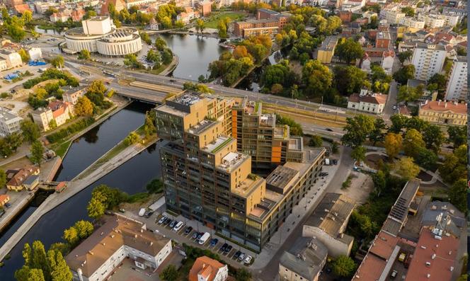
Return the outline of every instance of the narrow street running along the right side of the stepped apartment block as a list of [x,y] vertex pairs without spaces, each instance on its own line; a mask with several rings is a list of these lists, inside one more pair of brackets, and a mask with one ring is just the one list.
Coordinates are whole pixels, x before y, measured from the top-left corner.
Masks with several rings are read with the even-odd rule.
[[[340,186],[344,179],[348,177],[348,173],[352,169],[354,161],[350,157],[351,151],[348,147],[341,148],[341,159],[338,167],[338,171],[333,176],[331,181],[328,183],[327,187],[323,191],[322,197],[325,193],[333,192],[338,186]],[[294,244],[294,242],[299,238],[302,237],[302,229],[306,220],[310,217],[311,213],[314,212],[316,206],[319,205],[321,200],[316,200],[315,204],[310,207],[307,214],[303,217],[299,224],[294,228],[294,230],[290,233],[289,236],[285,238],[284,243],[282,246],[277,250],[277,252],[273,255],[268,265],[265,268],[258,271],[258,273],[253,274],[253,277],[256,280],[265,280],[265,281],[273,281],[276,280],[279,268],[279,260],[282,256],[284,251],[290,249],[290,247]]]

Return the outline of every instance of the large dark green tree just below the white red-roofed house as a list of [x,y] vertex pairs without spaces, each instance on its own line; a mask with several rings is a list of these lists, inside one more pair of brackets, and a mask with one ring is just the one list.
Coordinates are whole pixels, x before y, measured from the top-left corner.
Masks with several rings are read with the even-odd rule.
[[374,130],[374,118],[362,114],[348,117],[343,130],[346,132],[341,138],[343,144],[352,148],[359,147]]

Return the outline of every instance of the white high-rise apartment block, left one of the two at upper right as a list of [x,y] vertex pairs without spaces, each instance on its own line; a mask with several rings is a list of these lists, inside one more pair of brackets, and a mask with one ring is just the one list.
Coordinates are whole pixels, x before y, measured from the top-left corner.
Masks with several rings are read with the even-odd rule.
[[411,64],[415,66],[415,79],[428,81],[432,75],[439,73],[446,55],[443,45],[417,43],[411,59]]

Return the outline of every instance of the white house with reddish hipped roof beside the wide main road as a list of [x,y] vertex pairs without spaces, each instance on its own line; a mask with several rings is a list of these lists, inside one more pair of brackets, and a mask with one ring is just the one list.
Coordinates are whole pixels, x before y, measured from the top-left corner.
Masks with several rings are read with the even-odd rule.
[[348,108],[380,114],[384,111],[387,95],[382,93],[370,93],[367,88],[362,88],[360,93],[353,93],[348,98]]

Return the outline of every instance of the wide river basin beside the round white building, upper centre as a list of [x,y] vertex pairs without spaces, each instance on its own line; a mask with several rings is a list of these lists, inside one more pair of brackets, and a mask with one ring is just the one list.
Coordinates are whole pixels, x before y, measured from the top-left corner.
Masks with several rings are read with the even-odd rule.
[[207,67],[227,49],[220,47],[219,39],[203,38],[197,35],[161,34],[166,45],[179,58],[179,64],[172,76],[197,81],[200,75],[209,76]]

